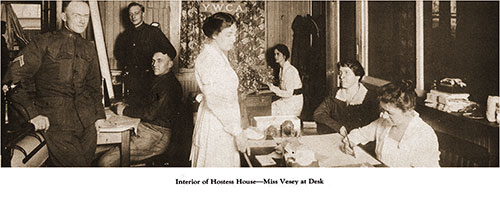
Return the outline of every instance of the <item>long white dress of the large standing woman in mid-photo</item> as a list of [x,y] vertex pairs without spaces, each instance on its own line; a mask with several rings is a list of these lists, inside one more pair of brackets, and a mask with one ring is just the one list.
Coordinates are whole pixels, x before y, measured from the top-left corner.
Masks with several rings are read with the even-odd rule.
[[205,45],[195,61],[204,97],[198,108],[191,147],[192,167],[239,167],[234,136],[241,130],[238,76],[226,55]]

